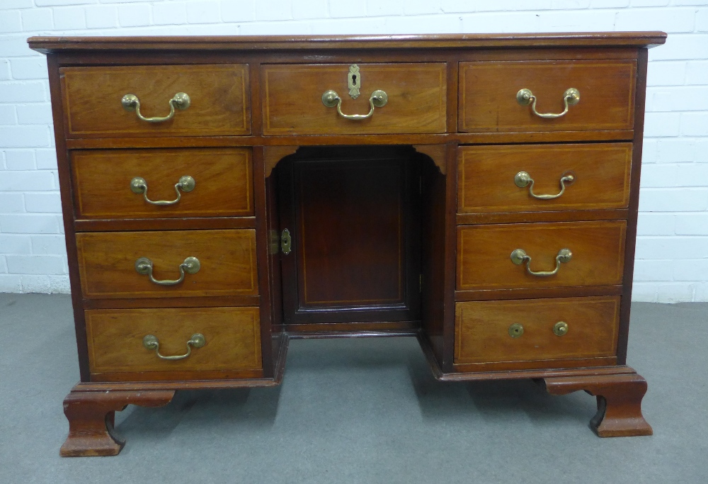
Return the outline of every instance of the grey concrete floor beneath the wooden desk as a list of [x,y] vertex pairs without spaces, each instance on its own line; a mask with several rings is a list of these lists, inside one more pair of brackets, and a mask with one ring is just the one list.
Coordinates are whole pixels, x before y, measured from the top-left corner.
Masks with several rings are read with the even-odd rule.
[[178,392],[59,458],[78,381],[68,296],[0,294],[0,483],[706,483],[708,304],[632,306],[652,437],[599,439],[595,399],[440,383],[413,338],[297,340],[278,388]]

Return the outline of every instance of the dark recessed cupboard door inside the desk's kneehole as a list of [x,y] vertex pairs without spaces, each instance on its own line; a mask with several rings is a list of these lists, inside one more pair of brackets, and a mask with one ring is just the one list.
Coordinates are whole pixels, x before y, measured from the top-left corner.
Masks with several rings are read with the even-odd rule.
[[302,150],[278,168],[288,325],[419,320],[420,154]]

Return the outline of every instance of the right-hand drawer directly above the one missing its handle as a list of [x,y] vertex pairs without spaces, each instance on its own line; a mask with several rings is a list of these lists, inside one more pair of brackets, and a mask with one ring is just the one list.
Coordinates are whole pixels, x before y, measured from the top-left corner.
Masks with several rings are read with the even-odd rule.
[[[622,283],[626,222],[521,223],[457,227],[457,290],[604,286]],[[530,262],[516,258],[523,250]],[[562,249],[571,251],[563,259]],[[553,271],[534,276],[532,271]]]

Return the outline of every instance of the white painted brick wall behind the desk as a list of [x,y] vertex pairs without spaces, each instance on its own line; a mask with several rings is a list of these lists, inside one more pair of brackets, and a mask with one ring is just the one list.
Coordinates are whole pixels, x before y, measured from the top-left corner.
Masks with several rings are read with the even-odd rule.
[[30,35],[664,30],[649,51],[634,299],[708,300],[708,0],[0,0],[0,291],[68,292]]

